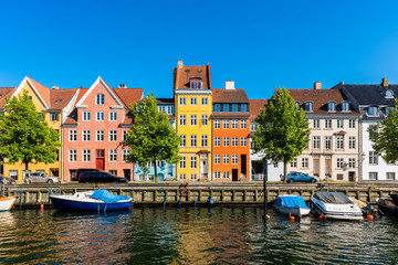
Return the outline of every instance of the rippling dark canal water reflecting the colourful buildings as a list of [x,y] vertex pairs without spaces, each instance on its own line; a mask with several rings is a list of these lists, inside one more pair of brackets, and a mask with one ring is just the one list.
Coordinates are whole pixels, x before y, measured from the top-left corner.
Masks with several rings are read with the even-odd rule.
[[290,221],[256,206],[0,212],[0,264],[395,264],[398,220]]

